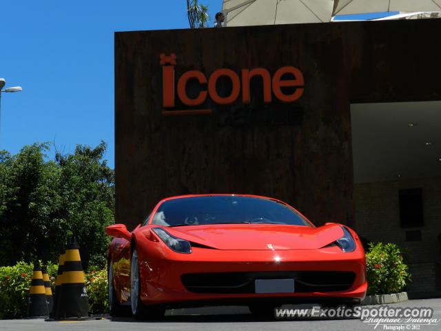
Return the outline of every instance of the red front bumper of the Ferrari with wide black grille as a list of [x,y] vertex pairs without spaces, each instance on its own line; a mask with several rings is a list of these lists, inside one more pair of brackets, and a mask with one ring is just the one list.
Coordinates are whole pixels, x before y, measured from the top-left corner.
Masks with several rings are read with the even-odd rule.
[[[321,299],[357,301],[364,299],[367,291],[365,254],[362,250],[344,253],[334,246],[320,250],[234,251],[194,248],[192,254],[166,252],[163,256],[149,255],[147,252],[139,250],[141,299],[145,304],[211,300],[215,300],[217,304],[224,301],[246,302],[254,299],[271,299],[280,302],[285,302],[287,299],[305,302],[309,299],[313,299],[314,302],[319,302]],[[335,285],[336,279],[339,278],[335,277],[338,275],[334,274],[335,272],[340,275],[352,275],[352,278],[347,278],[351,279],[351,283],[340,288],[326,286],[330,283]],[[333,274],[334,276],[331,277]],[[245,288],[239,290],[235,288],[243,281],[234,283],[233,280],[232,283],[232,275],[239,276],[239,280],[245,277],[248,281]],[[329,283],[327,279],[320,280],[320,275],[323,278],[327,276],[331,278]],[[205,279],[205,277],[211,278]],[[254,279],[286,278],[293,278],[294,283],[298,285],[294,285],[292,293],[254,292]],[[198,279],[201,284],[198,284]],[[237,280],[237,277],[235,279]],[[347,279],[346,282],[341,283],[347,283]],[[319,285],[324,286],[308,288],[302,286],[302,283],[316,285],[320,283]],[[221,286],[218,290],[210,290],[210,284]],[[227,285],[222,288],[222,284],[232,286]],[[203,288],[205,286],[205,289],[196,289],[198,287],[200,289],[201,286]]]

